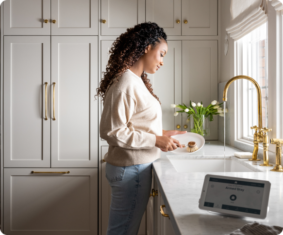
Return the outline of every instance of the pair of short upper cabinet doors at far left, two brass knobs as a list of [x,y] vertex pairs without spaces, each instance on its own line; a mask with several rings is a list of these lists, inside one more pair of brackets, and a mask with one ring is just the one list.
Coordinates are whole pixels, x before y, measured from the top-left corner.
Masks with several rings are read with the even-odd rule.
[[98,0],[3,3],[4,35],[98,35]]

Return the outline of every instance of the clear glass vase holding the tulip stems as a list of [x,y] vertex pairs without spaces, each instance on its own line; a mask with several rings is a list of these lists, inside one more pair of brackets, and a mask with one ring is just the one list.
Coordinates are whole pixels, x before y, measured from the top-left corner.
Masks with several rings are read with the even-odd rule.
[[201,114],[191,114],[189,117],[190,132],[200,134],[201,136],[210,135],[209,118]]

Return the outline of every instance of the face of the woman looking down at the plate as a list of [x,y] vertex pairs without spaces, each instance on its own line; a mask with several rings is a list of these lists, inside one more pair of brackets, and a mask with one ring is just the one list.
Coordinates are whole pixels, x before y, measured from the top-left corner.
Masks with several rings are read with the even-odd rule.
[[144,53],[144,71],[154,74],[163,65],[163,57],[168,50],[167,43],[162,40],[154,48],[150,45]]

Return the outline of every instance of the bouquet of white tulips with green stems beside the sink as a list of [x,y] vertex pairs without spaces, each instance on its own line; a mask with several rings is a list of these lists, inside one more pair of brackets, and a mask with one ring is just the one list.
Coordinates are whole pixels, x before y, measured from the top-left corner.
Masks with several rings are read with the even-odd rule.
[[[202,136],[208,136],[207,128],[204,125],[204,121],[209,117],[209,121],[213,121],[213,115],[224,116],[224,112],[228,112],[228,109],[223,110],[223,103],[219,104],[216,100],[212,101],[207,107],[203,107],[202,102],[196,104],[190,101],[189,107],[184,103],[183,105],[171,105],[171,108],[178,108],[180,111],[176,111],[174,116],[177,116],[179,112],[185,112],[188,114],[186,123],[191,122],[191,132],[198,133]],[[196,109],[196,110],[195,110]],[[190,121],[193,118],[193,122]]]

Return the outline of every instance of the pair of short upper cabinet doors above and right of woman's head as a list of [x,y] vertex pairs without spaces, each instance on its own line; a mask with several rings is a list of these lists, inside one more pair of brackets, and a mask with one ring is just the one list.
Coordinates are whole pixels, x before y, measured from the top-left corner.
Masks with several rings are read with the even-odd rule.
[[146,20],[167,35],[217,35],[217,0],[146,0]]

